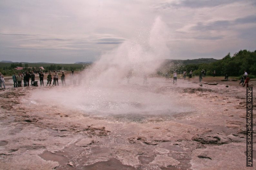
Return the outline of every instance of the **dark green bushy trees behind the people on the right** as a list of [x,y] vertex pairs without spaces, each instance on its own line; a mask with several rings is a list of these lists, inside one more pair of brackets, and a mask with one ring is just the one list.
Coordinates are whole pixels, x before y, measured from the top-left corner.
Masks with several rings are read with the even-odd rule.
[[[228,53],[224,58],[217,60],[212,63],[201,63],[201,64],[176,64],[168,70],[168,74],[173,74],[176,71],[178,74],[182,74],[183,71],[189,73],[193,71],[194,76],[198,76],[202,69],[206,72],[207,76],[213,76],[215,70],[216,76],[242,76],[244,71],[251,78],[256,78],[256,50],[251,52],[249,50],[240,50],[233,56]],[[158,72],[159,75],[163,73]]]

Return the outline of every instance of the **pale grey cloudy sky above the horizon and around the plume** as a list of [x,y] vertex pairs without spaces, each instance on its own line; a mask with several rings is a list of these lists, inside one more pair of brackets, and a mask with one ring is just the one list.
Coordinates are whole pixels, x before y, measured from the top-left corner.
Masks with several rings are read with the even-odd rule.
[[161,17],[169,59],[256,50],[255,0],[1,0],[0,61],[95,61]]

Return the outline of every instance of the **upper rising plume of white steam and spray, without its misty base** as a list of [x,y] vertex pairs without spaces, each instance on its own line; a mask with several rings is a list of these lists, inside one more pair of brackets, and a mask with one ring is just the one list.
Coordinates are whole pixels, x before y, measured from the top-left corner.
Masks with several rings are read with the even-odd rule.
[[102,55],[86,73],[86,80],[94,85],[117,85],[131,70],[136,76],[154,73],[170,55],[168,37],[165,23],[157,17],[149,32],[140,32],[133,40]]

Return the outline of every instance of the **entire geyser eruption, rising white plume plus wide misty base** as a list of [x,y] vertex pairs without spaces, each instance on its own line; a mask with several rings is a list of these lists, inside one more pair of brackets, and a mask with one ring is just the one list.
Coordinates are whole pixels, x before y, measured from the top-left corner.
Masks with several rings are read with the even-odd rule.
[[[54,87],[34,91],[31,102],[37,105],[78,109],[86,115],[145,116],[191,112],[176,94],[161,94],[158,89],[170,84],[143,85],[143,74],[154,73],[161,61],[169,56],[166,26],[158,17],[151,31],[135,40],[127,40],[116,49],[104,54],[88,71],[82,72],[81,86]],[[125,76],[133,71],[127,84]],[[154,78],[152,78],[152,81]],[[155,78],[156,79],[156,78]],[[157,81],[155,81],[157,82]],[[40,96],[40,98],[38,98]]]

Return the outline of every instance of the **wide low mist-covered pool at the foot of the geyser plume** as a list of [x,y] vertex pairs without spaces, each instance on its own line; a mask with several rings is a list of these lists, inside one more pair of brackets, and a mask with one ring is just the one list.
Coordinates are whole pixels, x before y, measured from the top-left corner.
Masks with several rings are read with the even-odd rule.
[[[139,82],[135,84],[134,82]],[[165,92],[170,83],[161,82],[161,78],[150,78],[150,83],[143,85],[142,79],[124,80],[118,86],[68,86],[46,87],[37,89],[29,98],[36,107],[46,106],[80,110],[86,116],[116,117],[134,121],[142,118],[161,117],[171,119],[178,113],[191,113],[195,109],[184,96],[176,91]],[[28,102],[28,101],[26,101]]]

